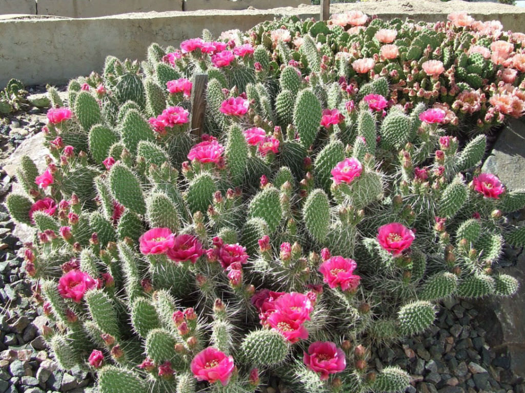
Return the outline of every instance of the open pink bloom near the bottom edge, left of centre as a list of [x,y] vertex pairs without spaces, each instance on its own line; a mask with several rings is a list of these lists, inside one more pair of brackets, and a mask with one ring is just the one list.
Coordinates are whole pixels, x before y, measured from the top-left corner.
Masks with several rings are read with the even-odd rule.
[[190,367],[197,380],[208,381],[211,384],[220,381],[226,386],[232,377],[235,364],[233,356],[227,356],[214,347],[207,347],[195,355]]

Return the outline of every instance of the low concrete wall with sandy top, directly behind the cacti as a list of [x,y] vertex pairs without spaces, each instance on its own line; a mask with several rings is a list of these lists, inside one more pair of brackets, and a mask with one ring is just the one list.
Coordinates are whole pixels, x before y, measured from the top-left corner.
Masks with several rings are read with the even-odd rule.
[[[479,20],[498,19],[506,29],[523,31],[525,9],[496,3],[464,3],[459,0],[385,0],[334,4],[332,12],[362,9],[382,18],[445,20],[452,10],[468,7]],[[151,42],[178,45],[198,37],[203,28],[214,35],[229,29],[247,30],[282,15],[301,18],[319,16],[319,6],[248,9],[244,11],[199,11],[127,14],[93,19],[56,17],[0,17],[0,88],[10,78],[25,84],[65,83],[78,75],[100,71],[109,54],[118,58],[143,59]]]

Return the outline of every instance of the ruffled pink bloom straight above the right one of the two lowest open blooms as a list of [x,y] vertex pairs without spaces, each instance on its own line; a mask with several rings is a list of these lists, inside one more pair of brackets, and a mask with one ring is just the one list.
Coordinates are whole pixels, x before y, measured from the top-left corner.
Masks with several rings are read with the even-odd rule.
[[361,281],[360,276],[353,274],[356,267],[357,264],[353,259],[338,255],[325,260],[319,266],[319,272],[330,288],[341,287],[343,291],[353,292]]

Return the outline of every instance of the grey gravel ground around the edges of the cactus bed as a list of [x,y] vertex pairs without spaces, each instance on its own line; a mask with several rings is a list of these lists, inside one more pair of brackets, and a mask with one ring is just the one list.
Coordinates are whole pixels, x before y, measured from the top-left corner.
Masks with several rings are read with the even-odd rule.
[[[29,89],[31,93],[43,90],[44,86]],[[0,161],[25,138],[38,132],[44,122],[45,110],[36,107],[0,121]],[[0,203],[12,182],[0,169]],[[23,259],[17,256],[22,244],[12,235],[13,228],[13,221],[0,205],[0,393],[92,392],[89,374],[79,369],[67,373],[58,370],[46,349],[40,332],[49,322],[26,279]],[[518,255],[511,253],[510,257],[516,259]],[[508,259],[503,259],[507,265],[515,264],[515,260]],[[481,318],[474,303],[444,301],[430,331],[379,348],[369,365],[378,370],[399,365],[408,370],[412,375],[408,393],[525,392],[522,378],[510,370],[510,358],[491,351],[485,342]],[[278,386],[277,381],[266,391],[290,392]]]

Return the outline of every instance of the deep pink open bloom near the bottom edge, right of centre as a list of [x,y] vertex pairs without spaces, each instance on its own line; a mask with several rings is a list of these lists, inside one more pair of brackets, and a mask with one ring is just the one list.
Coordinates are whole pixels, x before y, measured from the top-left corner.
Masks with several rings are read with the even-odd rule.
[[310,344],[302,361],[313,372],[321,373],[321,380],[327,380],[330,374],[340,373],[346,368],[344,351],[330,341],[316,341]]

